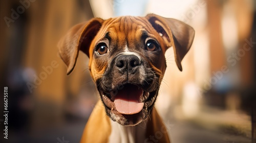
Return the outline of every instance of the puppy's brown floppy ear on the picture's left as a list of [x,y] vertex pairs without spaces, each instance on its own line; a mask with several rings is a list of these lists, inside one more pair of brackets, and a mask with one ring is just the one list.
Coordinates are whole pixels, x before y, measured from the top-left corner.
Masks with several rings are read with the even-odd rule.
[[88,22],[79,23],[71,28],[68,34],[59,41],[59,55],[68,66],[67,75],[75,67],[79,50],[90,57],[89,49],[91,42],[101,28],[103,21],[101,18],[93,18]]

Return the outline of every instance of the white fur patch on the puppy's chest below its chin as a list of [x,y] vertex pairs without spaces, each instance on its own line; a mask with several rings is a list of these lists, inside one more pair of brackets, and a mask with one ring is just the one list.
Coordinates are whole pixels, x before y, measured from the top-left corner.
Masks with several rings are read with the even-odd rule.
[[147,122],[145,121],[136,126],[121,126],[117,122],[111,121],[112,131],[109,142],[144,142],[146,136],[146,124]]

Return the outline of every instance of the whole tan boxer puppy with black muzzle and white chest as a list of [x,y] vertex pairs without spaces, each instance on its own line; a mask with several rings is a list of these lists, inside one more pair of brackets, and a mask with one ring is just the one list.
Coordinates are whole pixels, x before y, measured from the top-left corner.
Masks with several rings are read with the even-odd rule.
[[154,108],[166,69],[164,54],[173,46],[182,71],[181,61],[194,36],[194,29],[184,22],[156,14],[92,18],[74,26],[59,42],[59,55],[67,75],[79,50],[89,57],[101,99],[81,142],[170,142]]

